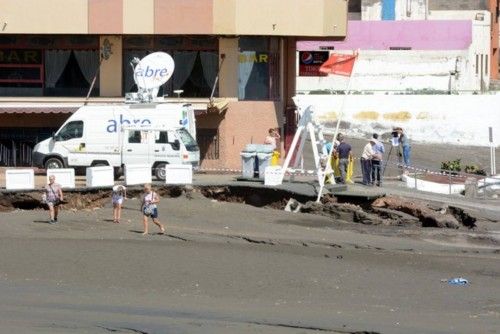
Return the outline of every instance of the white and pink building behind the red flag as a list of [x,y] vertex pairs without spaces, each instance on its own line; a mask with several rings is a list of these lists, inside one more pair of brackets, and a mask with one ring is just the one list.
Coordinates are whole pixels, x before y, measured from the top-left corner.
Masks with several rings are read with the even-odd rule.
[[[299,42],[299,56],[359,50],[351,89],[361,93],[485,92],[498,76],[497,3],[351,1],[347,38]],[[347,87],[347,78],[304,73],[300,57],[298,65],[299,93]]]

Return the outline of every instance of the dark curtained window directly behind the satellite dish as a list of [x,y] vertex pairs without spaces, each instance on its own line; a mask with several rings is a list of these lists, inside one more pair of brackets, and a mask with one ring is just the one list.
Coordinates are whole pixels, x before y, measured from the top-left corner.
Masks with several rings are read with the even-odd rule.
[[181,89],[185,97],[210,96],[219,70],[216,37],[127,36],[123,39],[123,49],[124,94],[137,91],[132,59],[163,51],[174,59],[175,70],[172,79],[160,88],[159,95],[174,96],[174,90]]

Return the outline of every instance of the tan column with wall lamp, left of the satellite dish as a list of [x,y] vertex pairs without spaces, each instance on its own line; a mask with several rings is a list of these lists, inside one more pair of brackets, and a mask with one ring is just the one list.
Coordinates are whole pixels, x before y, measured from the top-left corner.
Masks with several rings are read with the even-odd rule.
[[111,48],[108,59],[103,59],[99,72],[100,96],[122,96],[122,38],[121,36],[101,36],[99,48]]

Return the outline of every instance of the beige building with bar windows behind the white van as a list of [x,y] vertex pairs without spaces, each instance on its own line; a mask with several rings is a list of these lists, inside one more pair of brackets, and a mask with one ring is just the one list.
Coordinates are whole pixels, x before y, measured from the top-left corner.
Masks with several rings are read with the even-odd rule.
[[[160,93],[195,106],[202,167],[238,168],[268,128],[293,135],[296,40],[342,39],[346,24],[347,0],[2,0],[0,165],[29,165],[94,78],[88,103],[123,102],[130,61],[165,51],[176,70]],[[209,107],[212,91],[224,103]]]

